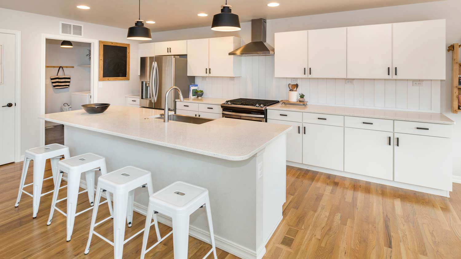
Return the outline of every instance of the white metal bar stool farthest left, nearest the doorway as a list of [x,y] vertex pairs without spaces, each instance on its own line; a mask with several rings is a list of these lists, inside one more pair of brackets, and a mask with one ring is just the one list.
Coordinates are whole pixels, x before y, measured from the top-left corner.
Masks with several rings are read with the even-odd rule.
[[[32,217],[37,217],[38,207],[40,205],[40,197],[53,192],[51,190],[43,194],[41,193],[43,181],[53,178],[54,185],[56,186],[56,180],[58,176],[58,161],[62,156],[64,156],[65,158],[69,158],[70,155],[69,148],[61,144],[49,144],[25,151],[23,172],[21,174],[21,182],[19,184],[18,198],[16,199],[16,204],[14,205],[14,207],[19,206],[21,194],[24,192],[25,194],[32,197]],[[45,174],[45,164],[47,162],[47,159],[49,159],[51,162],[51,171],[53,172],[53,176],[43,178],[43,175]],[[31,160],[34,161],[34,180],[32,183],[24,185],[27,175],[27,169],[29,168],[29,162]],[[34,184],[33,195],[24,190],[24,187],[29,186],[31,184]],[[65,186],[61,188],[64,187]]]

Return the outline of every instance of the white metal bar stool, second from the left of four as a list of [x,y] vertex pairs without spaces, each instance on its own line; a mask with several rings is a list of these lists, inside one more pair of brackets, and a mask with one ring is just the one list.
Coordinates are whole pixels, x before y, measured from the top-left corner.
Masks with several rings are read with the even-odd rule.
[[[78,195],[83,192],[88,192],[88,199],[90,205],[93,206],[95,198],[95,171],[101,171],[102,175],[107,173],[106,169],[106,158],[95,155],[92,153],[86,153],[83,155],[73,156],[71,158],[63,159],[58,163],[59,176],[56,187],[54,188],[53,202],[51,203],[50,216],[48,218],[47,225],[51,224],[53,219],[54,210],[59,211],[67,217],[67,241],[71,240],[72,232],[74,229],[75,217],[92,209],[89,207],[76,213],[77,210],[77,198]],[[62,173],[67,173],[67,197],[58,200],[59,185],[62,179]],[[80,187],[80,176],[82,173],[85,173],[87,190],[81,192],[78,191]],[[59,201],[67,200],[67,213],[64,213],[58,207],[56,203]],[[99,201],[98,201],[99,202]],[[110,196],[107,196],[107,200],[101,202],[101,204],[106,203],[109,205],[109,211],[112,216],[112,203]]]

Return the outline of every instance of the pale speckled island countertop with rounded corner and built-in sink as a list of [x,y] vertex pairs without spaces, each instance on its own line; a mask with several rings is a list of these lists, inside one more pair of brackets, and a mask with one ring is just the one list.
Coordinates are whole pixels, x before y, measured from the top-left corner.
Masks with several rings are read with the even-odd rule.
[[[163,110],[110,106],[104,113],[83,109],[40,115],[45,121],[221,159],[246,160],[263,150],[291,126],[220,118],[200,125],[149,118]],[[149,119],[145,119],[149,118]]]

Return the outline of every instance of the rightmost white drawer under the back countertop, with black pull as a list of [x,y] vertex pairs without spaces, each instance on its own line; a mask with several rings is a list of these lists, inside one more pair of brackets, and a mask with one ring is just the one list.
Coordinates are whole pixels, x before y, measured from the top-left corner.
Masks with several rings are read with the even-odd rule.
[[394,131],[399,133],[451,138],[451,130],[451,125],[414,121],[394,121]]

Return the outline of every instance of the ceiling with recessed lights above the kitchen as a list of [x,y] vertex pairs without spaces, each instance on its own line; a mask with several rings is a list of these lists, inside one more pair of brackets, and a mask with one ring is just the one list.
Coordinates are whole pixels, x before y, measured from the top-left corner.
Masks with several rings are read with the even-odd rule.
[[[276,19],[433,1],[438,0],[229,0],[228,4],[243,23],[255,18]],[[266,6],[270,2],[278,2],[280,6]],[[152,32],[211,26],[213,15],[220,12],[224,3],[225,0],[141,0],[141,19],[156,22],[147,24]],[[78,5],[91,9],[81,10],[76,8]],[[0,7],[119,28],[133,26],[138,18],[138,0],[5,0],[0,1]],[[198,17],[200,12],[208,16]]]

